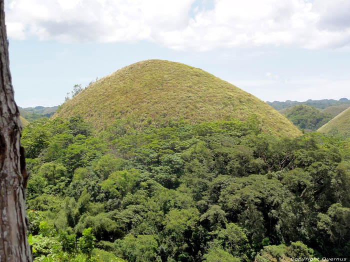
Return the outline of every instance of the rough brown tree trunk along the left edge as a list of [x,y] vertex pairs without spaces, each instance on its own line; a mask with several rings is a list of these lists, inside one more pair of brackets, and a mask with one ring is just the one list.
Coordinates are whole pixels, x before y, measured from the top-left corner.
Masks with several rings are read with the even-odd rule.
[[30,262],[24,204],[27,176],[9,72],[4,0],[0,0],[0,117],[0,261]]

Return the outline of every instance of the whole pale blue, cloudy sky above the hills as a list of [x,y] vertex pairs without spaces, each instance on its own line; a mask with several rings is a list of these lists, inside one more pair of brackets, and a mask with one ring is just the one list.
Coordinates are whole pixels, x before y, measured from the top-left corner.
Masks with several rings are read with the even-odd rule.
[[5,0],[21,107],[128,64],[201,68],[264,101],[350,98],[349,0]]

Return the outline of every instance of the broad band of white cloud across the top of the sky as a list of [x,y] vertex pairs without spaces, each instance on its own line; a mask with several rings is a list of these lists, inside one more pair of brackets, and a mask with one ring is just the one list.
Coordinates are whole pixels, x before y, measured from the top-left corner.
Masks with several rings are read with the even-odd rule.
[[[350,45],[350,1],[7,0],[11,38],[63,42],[152,41],[181,50]],[[193,16],[189,15],[192,11]]]

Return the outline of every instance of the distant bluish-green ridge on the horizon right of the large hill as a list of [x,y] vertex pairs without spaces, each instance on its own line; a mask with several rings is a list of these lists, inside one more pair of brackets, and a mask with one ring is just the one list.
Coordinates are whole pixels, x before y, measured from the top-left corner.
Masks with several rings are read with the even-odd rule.
[[273,101],[273,102],[266,102],[270,106],[272,106],[276,110],[281,110],[283,108],[287,107],[293,107],[295,105],[309,105],[315,108],[319,109],[324,109],[330,106],[342,106],[342,105],[348,105],[350,106],[350,100],[347,98],[340,98],[339,100],[334,100],[334,99],[322,99],[322,100],[307,100],[304,102],[298,102],[298,101],[290,101],[286,100],[285,102],[280,102],[280,101]]

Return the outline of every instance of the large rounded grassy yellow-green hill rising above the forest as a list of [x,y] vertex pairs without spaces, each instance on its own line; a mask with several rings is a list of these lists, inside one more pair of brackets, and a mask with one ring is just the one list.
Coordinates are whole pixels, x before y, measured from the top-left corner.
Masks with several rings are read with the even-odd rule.
[[264,131],[298,136],[300,131],[272,107],[201,69],[165,60],[125,66],[66,101],[53,117],[80,115],[97,129],[116,119],[134,126],[184,119],[200,123],[256,115]]

